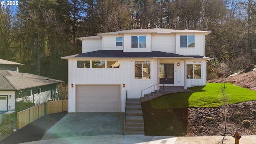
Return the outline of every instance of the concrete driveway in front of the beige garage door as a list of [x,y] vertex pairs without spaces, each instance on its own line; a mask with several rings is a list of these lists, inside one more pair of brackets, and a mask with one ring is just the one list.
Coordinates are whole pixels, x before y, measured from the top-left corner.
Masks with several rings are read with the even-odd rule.
[[123,133],[124,113],[70,113],[50,128],[41,140]]

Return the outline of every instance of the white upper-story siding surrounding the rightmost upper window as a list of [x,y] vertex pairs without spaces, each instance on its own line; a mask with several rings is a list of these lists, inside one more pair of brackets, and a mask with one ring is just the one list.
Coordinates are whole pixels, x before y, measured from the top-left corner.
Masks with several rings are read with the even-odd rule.
[[180,48],[180,36],[191,34],[177,34],[176,36],[176,54],[184,56],[204,56],[204,34],[193,34],[195,36],[194,48]]

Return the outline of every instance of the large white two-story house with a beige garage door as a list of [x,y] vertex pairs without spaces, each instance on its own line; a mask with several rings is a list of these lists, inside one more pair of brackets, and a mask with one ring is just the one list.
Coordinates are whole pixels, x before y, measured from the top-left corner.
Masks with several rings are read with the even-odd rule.
[[62,57],[68,60],[68,112],[124,112],[126,98],[151,93],[154,85],[205,86],[210,33],[154,28],[78,38],[82,54]]

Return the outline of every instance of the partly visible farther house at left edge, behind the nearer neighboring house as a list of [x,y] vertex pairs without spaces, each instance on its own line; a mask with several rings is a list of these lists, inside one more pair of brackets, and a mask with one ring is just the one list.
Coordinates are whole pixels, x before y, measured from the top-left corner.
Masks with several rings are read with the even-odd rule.
[[22,65],[24,64],[0,59],[0,70],[12,70],[15,72],[19,72],[19,66],[22,66]]

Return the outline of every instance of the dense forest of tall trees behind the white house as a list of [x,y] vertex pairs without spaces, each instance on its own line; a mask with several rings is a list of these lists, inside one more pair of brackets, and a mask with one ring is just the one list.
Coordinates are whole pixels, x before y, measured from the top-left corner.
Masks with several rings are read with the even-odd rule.
[[66,81],[60,57],[81,53],[77,37],[134,28],[212,31],[208,79],[256,62],[255,0],[19,0],[0,8],[0,58]]

